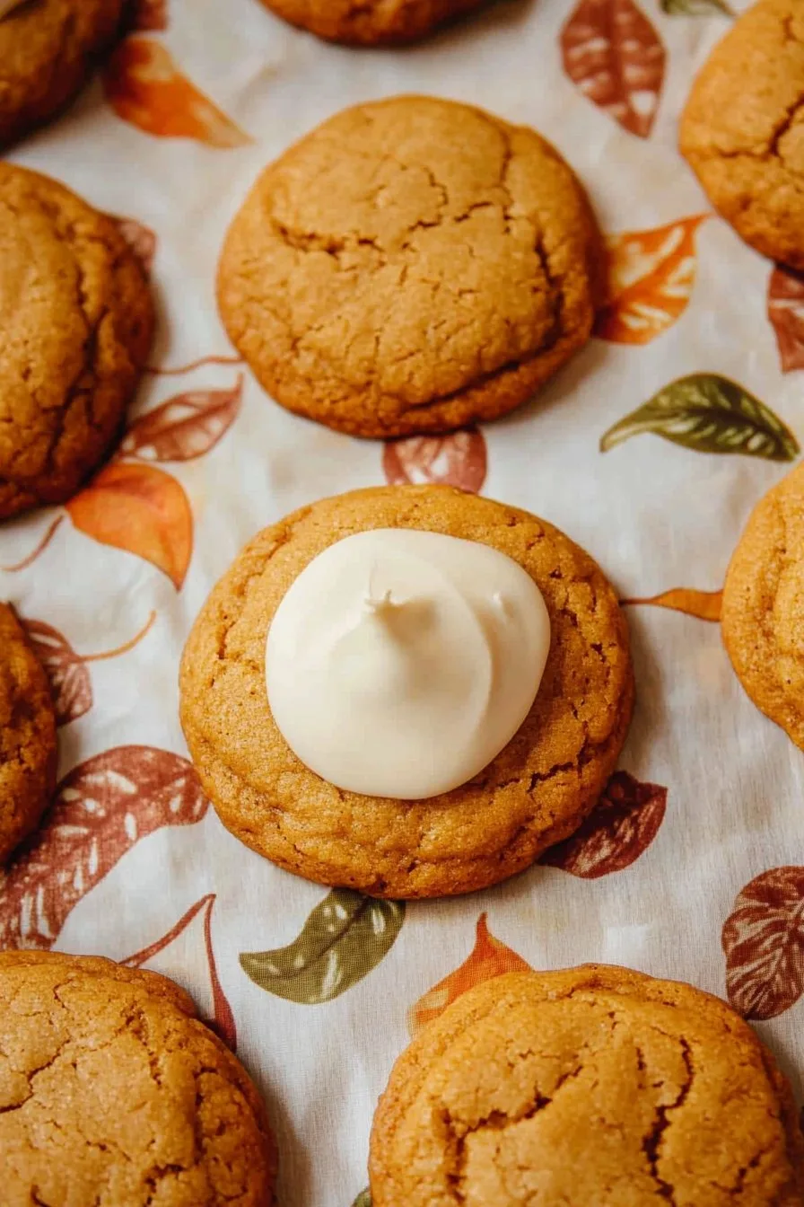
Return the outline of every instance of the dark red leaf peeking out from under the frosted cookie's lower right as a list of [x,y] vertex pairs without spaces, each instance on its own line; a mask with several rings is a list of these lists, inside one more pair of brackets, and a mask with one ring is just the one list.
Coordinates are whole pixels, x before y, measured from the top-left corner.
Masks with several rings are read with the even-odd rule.
[[640,783],[628,771],[615,771],[581,828],[539,862],[583,880],[622,871],[658,834],[667,800],[668,789],[658,783]]

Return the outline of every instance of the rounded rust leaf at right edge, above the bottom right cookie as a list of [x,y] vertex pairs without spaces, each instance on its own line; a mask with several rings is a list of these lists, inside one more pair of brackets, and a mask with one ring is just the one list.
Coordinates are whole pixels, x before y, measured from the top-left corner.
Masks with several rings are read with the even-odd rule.
[[722,934],[728,999],[774,1019],[804,992],[804,868],[771,868],[739,893]]

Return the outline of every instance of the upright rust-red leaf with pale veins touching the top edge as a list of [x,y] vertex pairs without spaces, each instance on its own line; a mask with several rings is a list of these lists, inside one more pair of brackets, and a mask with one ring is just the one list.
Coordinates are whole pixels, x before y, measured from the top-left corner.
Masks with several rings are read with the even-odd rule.
[[561,35],[564,71],[630,134],[647,138],[664,81],[664,47],[634,0],[580,0]]

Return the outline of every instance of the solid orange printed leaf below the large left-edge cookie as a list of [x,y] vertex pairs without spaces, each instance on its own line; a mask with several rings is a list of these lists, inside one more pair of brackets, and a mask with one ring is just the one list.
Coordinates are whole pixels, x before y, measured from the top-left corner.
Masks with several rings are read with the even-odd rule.
[[193,553],[193,513],[170,474],[149,465],[107,465],[66,509],[78,531],[145,558],[181,589]]

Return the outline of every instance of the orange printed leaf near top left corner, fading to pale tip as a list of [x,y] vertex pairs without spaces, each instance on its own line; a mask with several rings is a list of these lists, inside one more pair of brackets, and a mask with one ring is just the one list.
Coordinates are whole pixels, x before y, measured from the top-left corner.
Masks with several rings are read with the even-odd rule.
[[190,83],[164,46],[151,37],[127,37],[104,75],[106,99],[118,117],[145,134],[195,139],[213,147],[240,147],[247,134]]

